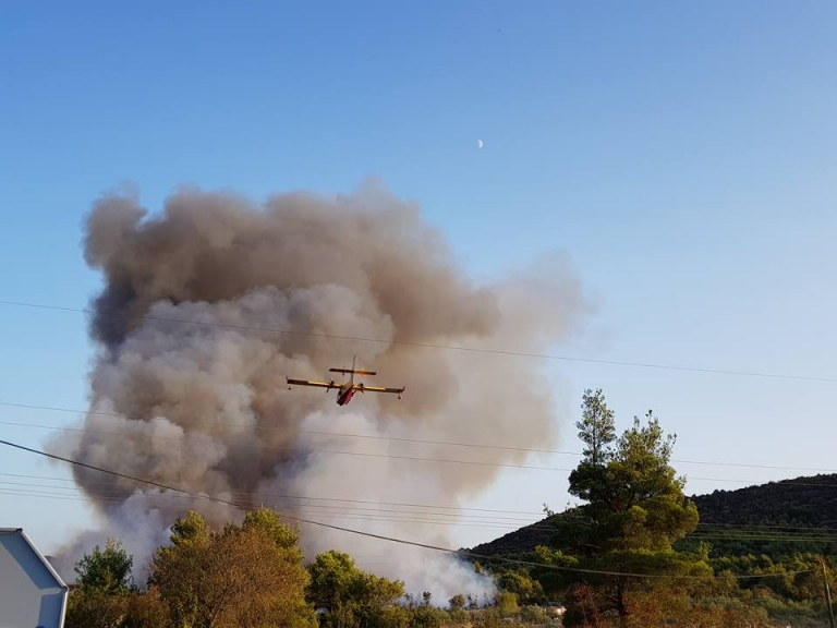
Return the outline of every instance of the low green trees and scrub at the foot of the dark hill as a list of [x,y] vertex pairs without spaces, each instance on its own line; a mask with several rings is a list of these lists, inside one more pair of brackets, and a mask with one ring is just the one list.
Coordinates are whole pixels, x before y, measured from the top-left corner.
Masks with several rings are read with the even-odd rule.
[[[541,567],[510,567],[508,563],[485,559],[481,568],[489,570],[505,593],[513,593],[521,607],[539,606],[561,600],[568,606],[566,626],[777,626],[789,624],[826,626],[822,557],[798,554],[784,560],[764,555],[711,558],[705,553],[678,553],[680,558],[703,561],[707,577],[680,580],[667,578],[624,578],[626,618],[620,624],[614,599],[608,596],[619,577],[562,573],[549,565],[575,566],[568,554],[547,546],[535,552],[506,554],[504,558],[521,563],[541,563]],[[835,581],[833,563],[826,560],[832,592]],[[642,573],[642,572],[641,572]],[[645,571],[645,573],[655,573]],[[760,576],[760,578],[749,578]],[[761,576],[766,576],[761,578]]]

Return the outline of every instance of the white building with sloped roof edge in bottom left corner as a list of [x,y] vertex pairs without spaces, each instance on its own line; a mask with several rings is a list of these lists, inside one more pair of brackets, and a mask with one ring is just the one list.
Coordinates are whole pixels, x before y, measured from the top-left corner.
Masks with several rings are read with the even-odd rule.
[[0,528],[0,628],[63,628],[68,588],[20,528]]

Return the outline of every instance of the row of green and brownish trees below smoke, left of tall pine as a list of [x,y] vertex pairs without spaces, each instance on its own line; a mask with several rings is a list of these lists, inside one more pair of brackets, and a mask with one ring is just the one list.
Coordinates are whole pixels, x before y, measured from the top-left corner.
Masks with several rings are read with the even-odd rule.
[[189,511],[170,541],[155,552],[142,588],[121,542],[86,554],[75,567],[66,628],[497,628],[505,618],[549,620],[543,608],[521,608],[502,591],[489,601],[416,599],[402,581],[363,571],[341,552],[319,554],[306,567],[296,529],[269,508],[221,531]]

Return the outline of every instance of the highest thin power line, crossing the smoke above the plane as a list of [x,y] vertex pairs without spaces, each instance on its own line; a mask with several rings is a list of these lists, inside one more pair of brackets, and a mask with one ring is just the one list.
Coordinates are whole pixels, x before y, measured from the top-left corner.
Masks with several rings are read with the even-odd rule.
[[330,340],[345,340],[352,342],[374,342],[378,345],[396,345],[402,347],[418,347],[424,349],[441,349],[448,351],[461,351],[466,353],[486,353],[494,355],[507,355],[515,358],[532,358],[538,360],[556,360],[562,362],[583,362],[589,364],[603,364],[608,366],[630,366],[635,369],[655,369],[663,371],[684,371],[691,373],[705,373],[712,375],[736,375],[742,377],[762,377],[772,379],[797,379],[803,382],[826,382],[837,383],[837,377],[815,377],[806,375],[791,375],[781,373],[764,373],[757,371],[735,371],[728,369],[705,369],[700,366],[682,366],[676,364],[658,364],[652,362],[629,362],[619,360],[598,360],[594,358],[577,358],[570,355],[557,355],[550,353],[532,353],[525,351],[511,351],[501,349],[483,349],[478,347],[460,347],[457,345],[440,345],[435,342],[412,342],[408,340],[388,340],[383,338],[369,338],[363,336],[341,336],[337,334],[325,334],[318,331],[301,331],[299,329],[284,329],[284,328],[271,328],[271,327],[255,327],[250,325],[232,325],[229,323],[210,323],[204,321],[191,321],[187,318],[171,318],[168,316],[151,316],[151,315],[138,315],[129,314],[124,312],[108,312],[106,310],[95,310],[90,307],[63,307],[59,305],[46,305],[41,303],[26,303],[21,301],[5,301],[0,300],[0,305],[8,305],[14,307],[32,307],[38,310],[51,310],[58,312],[73,312],[80,314],[96,314],[99,316],[111,316],[118,318],[128,318],[132,321],[153,321],[159,323],[175,323],[179,325],[196,325],[201,327],[221,327],[228,329],[235,329],[238,331],[258,331],[266,334],[281,334],[293,336],[308,336],[314,338],[327,338]]

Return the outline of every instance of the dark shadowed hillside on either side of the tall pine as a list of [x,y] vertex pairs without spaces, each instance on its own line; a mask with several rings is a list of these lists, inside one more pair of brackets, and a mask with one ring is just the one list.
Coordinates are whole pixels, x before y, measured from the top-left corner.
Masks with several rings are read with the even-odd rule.
[[[837,553],[837,474],[715,491],[692,499],[701,517],[693,539],[711,540],[718,548],[784,554],[790,550],[788,543],[793,543],[793,550]],[[537,545],[549,543],[557,517],[560,515],[471,551],[488,556],[532,552]],[[811,528],[820,530],[812,532]],[[725,540],[725,536],[735,539]]]

